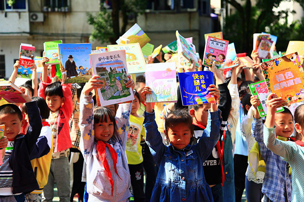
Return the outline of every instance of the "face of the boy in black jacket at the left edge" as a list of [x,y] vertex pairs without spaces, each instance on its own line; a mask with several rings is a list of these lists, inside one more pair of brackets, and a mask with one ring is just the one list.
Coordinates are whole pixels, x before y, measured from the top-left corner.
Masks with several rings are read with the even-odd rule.
[[9,139],[14,139],[24,125],[24,120],[20,120],[18,114],[0,115],[0,125],[5,125],[4,135]]

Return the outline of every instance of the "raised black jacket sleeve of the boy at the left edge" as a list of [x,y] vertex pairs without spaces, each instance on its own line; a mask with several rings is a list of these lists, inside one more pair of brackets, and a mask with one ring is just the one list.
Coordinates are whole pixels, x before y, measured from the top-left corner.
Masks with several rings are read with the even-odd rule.
[[25,139],[28,153],[32,153],[38,137],[42,129],[42,119],[36,101],[25,103],[28,114],[29,127],[27,129]]

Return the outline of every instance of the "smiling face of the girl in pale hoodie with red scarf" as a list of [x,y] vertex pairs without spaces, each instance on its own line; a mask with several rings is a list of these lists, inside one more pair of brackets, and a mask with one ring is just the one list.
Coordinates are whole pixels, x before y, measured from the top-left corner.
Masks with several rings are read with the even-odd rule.
[[111,122],[109,116],[106,116],[106,122],[99,122],[94,124],[95,139],[107,142],[114,133],[114,123]]

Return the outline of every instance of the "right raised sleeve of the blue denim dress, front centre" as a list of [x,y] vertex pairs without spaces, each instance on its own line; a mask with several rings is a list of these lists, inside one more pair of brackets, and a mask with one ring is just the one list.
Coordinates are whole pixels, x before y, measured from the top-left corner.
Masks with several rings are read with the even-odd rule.
[[207,127],[204,130],[202,137],[199,139],[199,142],[194,145],[194,148],[199,151],[203,162],[211,154],[212,149],[219,140],[219,126],[221,122],[220,114],[220,110],[215,112],[209,111]]

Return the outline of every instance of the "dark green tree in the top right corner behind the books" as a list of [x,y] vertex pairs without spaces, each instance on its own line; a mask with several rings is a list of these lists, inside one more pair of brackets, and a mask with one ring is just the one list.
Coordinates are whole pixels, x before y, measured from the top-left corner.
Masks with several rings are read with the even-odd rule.
[[[237,0],[225,0],[225,2],[237,10],[235,14],[225,19],[225,38],[236,44],[238,52],[246,52],[247,54],[250,54],[252,50],[253,33],[273,31],[272,26],[280,26],[282,23],[279,20],[286,18],[293,12],[289,10],[273,12],[273,8],[279,7],[283,0],[257,0],[255,6],[252,6],[251,0],[241,0],[241,3]],[[296,0],[296,2],[303,5],[304,0]],[[284,26],[289,27],[287,22]],[[275,35],[275,33],[271,33]],[[284,38],[286,37],[289,36],[284,35]],[[279,41],[281,39],[278,37]]]

